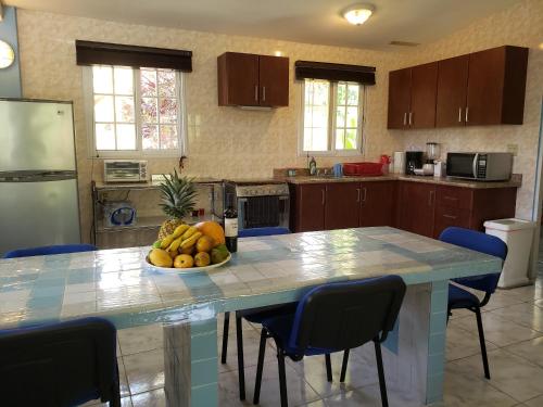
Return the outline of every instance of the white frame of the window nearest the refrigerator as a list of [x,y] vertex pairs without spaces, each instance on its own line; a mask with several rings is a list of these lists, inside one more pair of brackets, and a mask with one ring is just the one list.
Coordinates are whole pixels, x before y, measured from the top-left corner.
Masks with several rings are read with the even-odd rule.
[[[103,65],[124,67],[122,65]],[[94,132],[94,89],[92,82],[92,66],[83,67],[83,87],[85,116],[87,128],[87,151],[90,158],[177,158],[187,155],[187,106],[186,106],[186,77],[182,72],[175,71],[177,103],[177,135],[178,148],[169,150],[143,150],[141,136],[141,85],[140,68],[131,67],[134,79],[134,114],[136,125],[136,150],[97,150]]]

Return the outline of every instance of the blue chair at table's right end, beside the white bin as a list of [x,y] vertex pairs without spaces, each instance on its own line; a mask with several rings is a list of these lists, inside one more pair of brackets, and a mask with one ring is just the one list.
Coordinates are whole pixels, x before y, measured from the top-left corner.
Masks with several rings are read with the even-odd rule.
[[[500,257],[505,262],[507,257],[507,245],[498,238],[485,234],[476,230],[451,227],[443,230],[440,240],[457,246],[471,249],[477,252]],[[484,342],[484,330],[482,327],[481,308],[490,301],[491,295],[496,291],[501,272],[453,279],[456,284],[484,292],[483,300],[462,287],[449,284],[449,309],[447,321],[452,315],[452,309],[469,309],[477,318],[477,329],[479,331],[479,343],[481,345],[482,365],[484,377],[490,379],[489,359],[487,357],[487,345]]]

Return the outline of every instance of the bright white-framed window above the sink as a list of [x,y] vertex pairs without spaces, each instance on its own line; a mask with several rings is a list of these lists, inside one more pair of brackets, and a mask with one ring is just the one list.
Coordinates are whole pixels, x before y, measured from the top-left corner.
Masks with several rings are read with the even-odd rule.
[[362,152],[364,86],[305,79],[302,90],[302,153],[330,155]]

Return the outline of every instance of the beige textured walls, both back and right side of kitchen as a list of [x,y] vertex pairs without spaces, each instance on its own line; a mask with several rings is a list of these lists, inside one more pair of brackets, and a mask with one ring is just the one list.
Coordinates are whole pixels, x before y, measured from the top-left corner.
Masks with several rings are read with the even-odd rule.
[[[23,93],[26,98],[73,100],[84,238],[90,225],[91,160],[83,103],[81,67],[75,64],[75,39],[188,49],[193,51],[193,72],[187,75],[189,160],[186,174],[212,177],[270,177],[274,167],[304,166],[298,157],[300,86],[293,80],[296,60],[375,65],[377,86],[368,90],[366,151],[359,160],[435,140],[446,150],[504,150],[519,145],[515,170],[525,175],[518,215],[529,217],[533,194],[539,113],[543,93],[543,2],[525,0],[504,13],[484,18],[437,43],[404,52],[378,52],[314,46],[180,29],[118,24],[20,10]],[[413,64],[453,56],[500,44],[531,48],[523,126],[389,131],[387,123],[388,72]],[[289,107],[251,112],[217,106],[216,58],[225,51],[274,54],[281,51],[291,62]],[[356,160],[349,157],[350,161]],[[342,158],[317,158],[329,165]],[[151,173],[171,170],[177,160],[150,161]],[[94,178],[101,178],[101,162]]]

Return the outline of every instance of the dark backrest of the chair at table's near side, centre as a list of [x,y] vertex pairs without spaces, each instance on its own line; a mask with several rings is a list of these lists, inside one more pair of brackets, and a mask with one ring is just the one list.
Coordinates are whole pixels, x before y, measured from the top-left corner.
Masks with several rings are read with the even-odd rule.
[[289,346],[303,353],[382,342],[394,327],[404,294],[399,276],[319,285],[300,301]]

